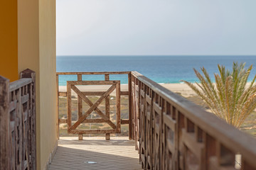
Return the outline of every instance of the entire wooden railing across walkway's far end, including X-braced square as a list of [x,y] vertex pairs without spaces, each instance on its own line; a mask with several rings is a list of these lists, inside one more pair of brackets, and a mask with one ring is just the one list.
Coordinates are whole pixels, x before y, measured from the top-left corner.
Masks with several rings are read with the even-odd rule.
[[[78,134],[78,138],[79,140],[82,140],[82,135],[87,133],[105,133],[106,135],[106,140],[110,140],[110,132],[120,132],[120,125],[124,125],[124,124],[129,124],[129,139],[132,139],[132,122],[129,120],[132,120],[132,94],[131,94],[131,72],[57,72],[56,76],[57,76],[57,94],[58,94],[58,108],[59,108],[59,97],[63,96],[63,97],[67,97],[67,103],[68,103],[68,108],[71,108],[71,94],[70,94],[70,90],[68,89],[72,89],[71,86],[73,86],[72,84],[80,84],[80,85],[92,85],[93,83],[95,84],[96,81],[88,81],[86,78],[82,79],[82,75],[104,75],[104,81],[97,81],[97,85],[102,84],[102,85],[106,85],[106,84],[110,84],[110,75],[114,75],[114,74],[124,74],[127,75],[127,79],[128,79],[128,91],[119,91],[119,85],[117,86],[117,89],[119,91],[119,95],[117,96],[129,96],[129,119],[121,119],[119,123],[117,123],[117,128],[115,127],[115,125],[113,125],[113,123],[110,121],[110,96],[109,94],[111,93],[111,91],[109,91],[109,94],[107,96],[105,96],[103,98],[102,95],[104,95],[104,91],[89,91],[89,92],[82,92],[79,91],[78,88],[75,88],[73,90],[75,90],[78,94],[78,121],[75,123],[75,127],[78,126],[78,124],[80,123],[109,123],[112,128],[114,128],[113,130],[74,130],[73,125],[71,123],[71,116],[70,116],[70,109],[68,109],[68,113],[67,113],[67,118],[59,118],[59,111],[58,111],[58,127],[60,126],[61,123],[67,123],[68,124],[68,132],[69,133],[77,133]],[[77,76],[77,81],[67,81],[67,85],[70,88],[67,88],[68,91],[59,91],[59,76],[60,75],[75,75]],[[84,81],[82,83],[82,81]],[[108,83],[106,82],[108,81]],[[117,80],[115,80],[117,81]],[[112,84],[113,82],[111,82]],[[113,89],[112,89],[113,90]],[[97,106],[93,106],[93,103],[86,97],[86,96],[102,96],[102,100],[105,99],[105,114],[102,114],[102,112],[97,108]],[[118,98],[118,97],[117,97]],[[101,100],[101,101],[102,101]],[[90,120],[90,119],[86,119],[86,114],[82,115],[82,101],[85,101],[85,103],[87,103],[91,108],[92,107],[96,107],[95,111],[100,114],[102,116],[101,119],[94,119],[94,120]],[[100,102],[99,102],[100,103]],[[98,104],[99,104],[98,103]],[[97,104],[97,105],[98,105]],[[117,110],[120,107],[120,102],[119,100],[117,100]],[[90,110],[90,109],[89,109]],[[118,113],[119,111],[117,111],[117,117],[120,116],[120,113]],[[91,112],[90,112],[91,113]],[[87,113],[87,115],[90,114],[89,112]],[[106,117],[107,116],[107,117]],[[85,118],[83,118],[85,117]],[[58,136],[59,136],[59,128],[58,128]]]

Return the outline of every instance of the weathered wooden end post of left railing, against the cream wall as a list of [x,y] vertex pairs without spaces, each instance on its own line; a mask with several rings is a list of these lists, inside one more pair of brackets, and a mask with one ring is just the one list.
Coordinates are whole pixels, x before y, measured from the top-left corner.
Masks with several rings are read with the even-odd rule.
[[21,79],[31,78],[31,97],[32,97],[32,108],[31,108],[31,168],[36,169],[36,72],[31,69],[25,69],[21,72]]

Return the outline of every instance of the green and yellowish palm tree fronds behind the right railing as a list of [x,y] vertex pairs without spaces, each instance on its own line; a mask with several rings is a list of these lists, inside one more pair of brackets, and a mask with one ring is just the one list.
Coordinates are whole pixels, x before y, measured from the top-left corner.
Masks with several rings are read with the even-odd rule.
[[183,81],[206,102],[210,110],[230,125],[240,128],[252,111],[256,108],[256,75],[250,86],[246,83],[252,70],[252,65],[244,69],[245,63],[233,63],[233,72],[218,64],[220,74],[214,74],[215,84],[210,80],[208,72],[203,67],[200,74],[193,69],[200,83],[192,84]]

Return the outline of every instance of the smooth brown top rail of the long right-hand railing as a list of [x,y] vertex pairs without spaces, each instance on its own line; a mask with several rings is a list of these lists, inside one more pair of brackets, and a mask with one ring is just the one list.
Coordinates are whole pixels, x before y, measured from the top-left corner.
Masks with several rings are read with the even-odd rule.
[[233,150],[233,152],[240,152],[245,160],[256,166],[256,140],[250,135],[241,132],[240,130],[228,125],[223,120],[220,120],[212,113],[203,111],[200,106],[188,101],[186,98],[174,94],[163,86],[157,84],[155,81],[144,77],[138,72],[132,72],[132,75],[139,79],[146,86],[149,86],[156,94],[168,101],[172,106],[175,106],[178,111],[186,115],[193,123],[196,123],[199,128],[207,132],[209,135],[215,137]]

